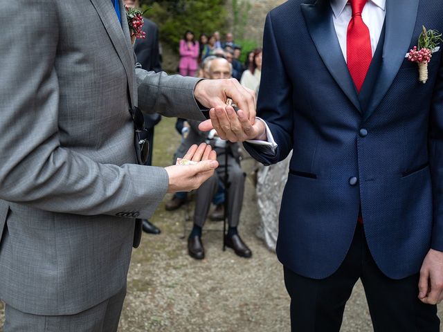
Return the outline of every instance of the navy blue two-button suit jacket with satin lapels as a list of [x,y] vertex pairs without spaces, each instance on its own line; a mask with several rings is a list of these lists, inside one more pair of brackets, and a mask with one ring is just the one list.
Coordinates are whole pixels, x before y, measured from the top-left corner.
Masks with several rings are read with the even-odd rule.
[[442,50],[426,84],[405,59],[423,25],[443,31],[443,6],[386,2],[382,53],[365,102],[329,1],[289,0],[266,18],[257,113],[278,149],[245,147],[265,165],[293,149],[277,253],[306,277],[325,278],[341,265],[360,205],[368,246],[388,277],[418,273],[429,248],[443,251]]

